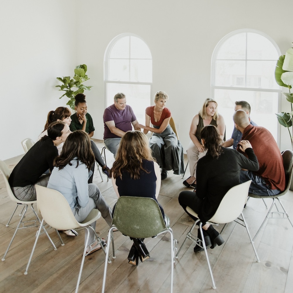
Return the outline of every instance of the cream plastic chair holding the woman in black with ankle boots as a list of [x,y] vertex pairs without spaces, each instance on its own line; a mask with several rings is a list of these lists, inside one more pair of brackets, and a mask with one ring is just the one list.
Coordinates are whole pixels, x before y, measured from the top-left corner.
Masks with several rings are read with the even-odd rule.
[[[260,260],[258,258],[258,254],[256,252],[255,246],[253,244],[253,240],[252,240],[250,232],[248,230],[247,223],[246,223],[244,216],[243,216],[243,213],[242,213],[244,205],[246,204],[246,201],[247,201],[247,195],[248,195],[248,189],[249,189],[250,183],[251,183],[251,180],[230,188],[228,190],[228,192],[224,195],[222,201],[220,202],[220,205],[219,205],[217,211],[215,212],[213,217],[211,219],[209,219],[209,221],[207,223],[218,225],[218,224],[226,224],[226,223],[232,222],[234,220],[236,222],[237,222],[237,220],[241,221],[241,222],[237,222],[237,223],[241,224],[242,226],[244,226],[246,228],[248,237],[250,239],[251,245],[253,247],[253,250],[254,250],[254,253],[256,256],[256,260],[259,263]],[[195,211],[193,211],[190,207],[187,207],[186,210],[188,211],[188,213],[190,213],[194,217],[198,218],[197,213]],[[242,219],[239,218],[239,215],[241,215]],[[196,224],[199,225],[200,234],[201,234],[201,237],[203,240],[198,239],[197,236],[195,236],[194,234],[191,233]],[[213,284],[212,287],[213,287],[213,289],[216,289],[211,265],[209,263],[209,257],[207,255],[207,248],[205,246],[205,238],[203,236],[203,231],[202,231],[202,222],[200,222],[199,219],[197,221],[195,221],[195,223],[191,227],[190,231],[187,233],[184,242],[182,243],[181,247],[178,250],[178,253],[180,252],[181,248],[183,247],[183,245],[185,244],[185,241],[187,239],[190,239],[195,243],[197,243],[197,240],[200,241],[200,246],[202,248],[204,248],[204,251],[205,251],[207,265],[209,267],[209,273],[211,275],[212,284]],[[178,253],[175,256],[176,258],[178,256]]]

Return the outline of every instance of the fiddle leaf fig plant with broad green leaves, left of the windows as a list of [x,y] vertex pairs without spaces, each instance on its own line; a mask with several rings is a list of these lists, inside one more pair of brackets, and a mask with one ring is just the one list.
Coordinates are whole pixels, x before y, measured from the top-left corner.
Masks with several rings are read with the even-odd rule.
[[87,81],[89,78],[86,75],[87,66],[86,64],[78,65],[74,69],[74,76],[71,79],[70,76],[57,77],[59,81],[62,82],[62,85],[58,85],[59,91],[65,91],[65,93],[59,98],[61,99],[64,96],[69,98],[69,101],[66,105],[69,105],[71,109],[74,110],[75,96],[78,93],[83,93],[84,90],[90,91],[92,86],[85,86],[84,81]]

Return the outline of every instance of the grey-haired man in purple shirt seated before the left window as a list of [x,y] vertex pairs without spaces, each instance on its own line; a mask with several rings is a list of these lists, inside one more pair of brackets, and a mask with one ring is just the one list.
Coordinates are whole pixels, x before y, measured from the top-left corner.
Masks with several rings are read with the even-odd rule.
[[[132,108],[126,105],[125,94],[117,93],[114,104],[105,109],[104,115],[104,143],[107,149],[116,156],[121,137],[132,130],[137,119]],[[131,125],[132,124],[132,125]],[[134,127],[135,130],[140,128]]]

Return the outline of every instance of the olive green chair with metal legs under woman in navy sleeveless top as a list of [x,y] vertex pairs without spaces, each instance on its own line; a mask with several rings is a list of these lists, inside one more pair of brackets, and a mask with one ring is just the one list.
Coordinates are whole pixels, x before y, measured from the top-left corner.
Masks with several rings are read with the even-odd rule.
[[[165,224],[166,222],[166,224]],[[162,217],[158,203],[149,197],[121,196],[118,198],[112,220],[112,226],[108,233],[108,243],[106,248],[105,269],[103,277],[102,293],[105,292],[105,282],[107,273],[107,258],[112,241],[113,258],[115,258],[115,249],[113,241],[113,230],[118,229],[123,235],[132,238],[148,238],[165,234],[168,232],[171,236],[171,289],[173,291],[173,262],[174,262],[174,244],[177,249],[177,241],[173,239],[173,231],[169,227],[170,220],[165,215],[165,221]]]

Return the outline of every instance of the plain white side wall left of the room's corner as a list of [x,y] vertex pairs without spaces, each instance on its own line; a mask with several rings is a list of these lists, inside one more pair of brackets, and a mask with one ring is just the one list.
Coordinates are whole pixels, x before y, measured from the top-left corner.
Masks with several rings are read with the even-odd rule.
[[57,76],[76,66],[75,1],[1,1],[0,159],[23,154],[21,140],[36,139],[62,93]]

